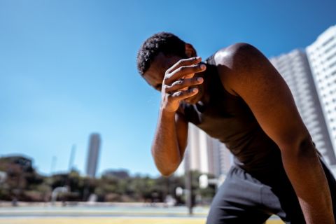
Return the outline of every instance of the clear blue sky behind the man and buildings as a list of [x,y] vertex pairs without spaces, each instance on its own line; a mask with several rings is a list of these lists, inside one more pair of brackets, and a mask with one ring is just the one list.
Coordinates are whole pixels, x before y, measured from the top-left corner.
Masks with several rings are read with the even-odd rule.
[[42,174],[83,173],[99,132],[99,173],[158,175],[151,140],[160,94],[137,73],[141,43],[171,31],[204,59],[236,42],[267,57],[304,48],[336,23],[336,1],[0,0],[0,155]]

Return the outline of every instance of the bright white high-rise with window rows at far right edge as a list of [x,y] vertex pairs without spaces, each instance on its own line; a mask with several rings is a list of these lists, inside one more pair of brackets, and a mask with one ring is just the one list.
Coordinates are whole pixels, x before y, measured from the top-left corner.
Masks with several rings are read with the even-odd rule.
[[[336,150],[336,25],[325,30],[306,50],[332,145]],[[335,160],[330,164],[336,165]]]

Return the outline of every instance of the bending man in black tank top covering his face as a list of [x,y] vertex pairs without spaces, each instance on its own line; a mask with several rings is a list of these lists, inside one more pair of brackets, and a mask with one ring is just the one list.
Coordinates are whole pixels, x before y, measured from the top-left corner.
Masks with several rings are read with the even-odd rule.
[[162,32],[144,42],[137,65],[162,95],[152,146],[162,175],[183,160],[189,122],[235,155],[207,223],[264,223],[272,214],[286,223],[335,223],[336,181],[259,50],[237,43],[202,62],[193,45]]

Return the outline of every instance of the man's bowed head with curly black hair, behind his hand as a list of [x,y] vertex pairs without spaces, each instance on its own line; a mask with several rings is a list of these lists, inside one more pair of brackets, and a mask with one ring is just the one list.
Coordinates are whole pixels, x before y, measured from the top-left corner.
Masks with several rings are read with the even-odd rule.
[[160,90],[165,71],[179,59],[195,57],[193,45],[174,34],[160,32],[149,37],[139,49],[137,67],[141,76],[155,89]]

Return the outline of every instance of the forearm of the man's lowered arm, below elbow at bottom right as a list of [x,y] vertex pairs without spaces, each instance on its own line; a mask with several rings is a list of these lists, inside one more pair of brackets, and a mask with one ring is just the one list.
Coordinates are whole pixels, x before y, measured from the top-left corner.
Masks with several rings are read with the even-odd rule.
[[328,181],[312,144],[297,153],[282,151],[283,167],[299,199],[306,223],[335,223]]

